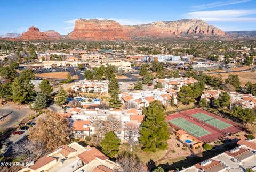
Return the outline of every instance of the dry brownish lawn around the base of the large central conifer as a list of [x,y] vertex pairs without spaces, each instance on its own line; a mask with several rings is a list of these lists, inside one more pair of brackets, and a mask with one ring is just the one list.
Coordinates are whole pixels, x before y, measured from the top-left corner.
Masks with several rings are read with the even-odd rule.
[[[136,147],[133,147],[133,152],[140,157],[140,160],[144,164],[149,162],[150,159],[152,159],[153,161],[157,161],[158,159],[162,158],[167,152],[167,150],[157,150],[156,153],[144,152],[143,150],[141,150],[141,147],[142,147],[141,145],[137,145]],[[121,144],[119,152],[123,150],[130,151],[129,144],[126,144],[126,143]]]

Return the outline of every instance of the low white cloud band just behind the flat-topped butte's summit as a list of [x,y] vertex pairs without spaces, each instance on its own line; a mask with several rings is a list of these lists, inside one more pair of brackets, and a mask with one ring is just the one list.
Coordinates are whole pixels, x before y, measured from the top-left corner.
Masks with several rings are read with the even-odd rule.
[[[85,18],[88,20],[88,18]],[[104,20],[106,18],[97,18],[99,20]],[[64,21],[65,23],[74,24],[77,19],[67,20]],[[137,25],[137,24],[148,24],[151,21],[144,21],[144,20],[137,20],[137,19],[107,19],[107,20],[115,20],[116,22],[120,23],[121,25]]]

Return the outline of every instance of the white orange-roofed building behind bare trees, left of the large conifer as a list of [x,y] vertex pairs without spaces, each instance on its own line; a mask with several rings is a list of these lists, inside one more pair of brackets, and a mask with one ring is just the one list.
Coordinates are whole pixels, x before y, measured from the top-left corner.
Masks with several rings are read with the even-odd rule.
[[[71,118],[74,123],[73,126],[73,134],[75,138],[83,138],[86,136],[91,136],[95,134],[95,126],[93,122],[95,120],[101,119],[105,121],[109,116],[115,117],[117,120],[121,121],[122,129],[118,131],[116,134],[121,139],[125,138],[124,126],[128,123],[133,123],[139,126],[143,119],[144,115],[142,115],[142,110],[137,109],[80,109],[73,108],[67,109],[65,113],[71,113]],[[63,116],[67,116],[68,114],[62,113]],[[61,113],[58,113],[61,114]]]

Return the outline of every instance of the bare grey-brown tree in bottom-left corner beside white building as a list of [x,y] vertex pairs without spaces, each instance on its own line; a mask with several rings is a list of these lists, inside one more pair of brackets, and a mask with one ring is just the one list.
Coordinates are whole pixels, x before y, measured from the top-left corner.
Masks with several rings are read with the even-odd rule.
[[24,157],[26,161],[35,161],[44,156],[47,150],[43,147],[42,142],[32,142],[24,140],[13,147],[13,154],[15,157]]

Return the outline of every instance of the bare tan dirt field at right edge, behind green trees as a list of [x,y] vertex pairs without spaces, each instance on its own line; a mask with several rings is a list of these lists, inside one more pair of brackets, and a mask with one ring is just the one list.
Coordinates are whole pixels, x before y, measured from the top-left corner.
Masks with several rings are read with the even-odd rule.
[[[256,72],[251,71],[243,71],[243,72],[232,72],[232,73],[220,73],[222,76],[222,81],[225,82],[225,79],[228,78],[228,75],[238,75],[242,86],[244,86],[248,81],[251,83],[256,83]],[[211,76],[215,76],[217,74],[210,74]]]

